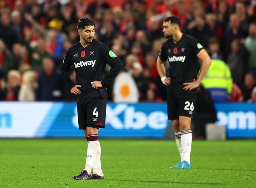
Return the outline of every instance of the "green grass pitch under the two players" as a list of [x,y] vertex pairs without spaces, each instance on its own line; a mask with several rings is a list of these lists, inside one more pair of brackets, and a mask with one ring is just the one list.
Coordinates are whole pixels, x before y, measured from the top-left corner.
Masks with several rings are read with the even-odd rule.
[[101,139],[104,180],[72,180],[84,168],[85,139],[0,139],[0,188],[256,187],[256,140],[193,141],[192,169],[174,140]]

